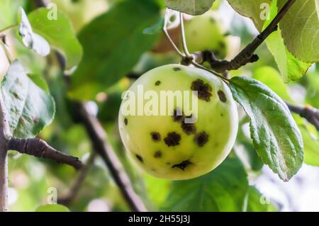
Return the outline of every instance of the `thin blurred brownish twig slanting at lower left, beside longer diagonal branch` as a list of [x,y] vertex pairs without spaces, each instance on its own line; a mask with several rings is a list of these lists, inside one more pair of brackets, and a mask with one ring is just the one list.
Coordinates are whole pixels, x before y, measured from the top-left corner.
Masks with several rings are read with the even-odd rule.
[[61,197],[58,199],[58,202],[62,205],[69,205],[72,203],[74,198],[77,197],[82,184],[84,183],[89,170],[91,169],[92,164],[94,164],[94,159],[96,157],[95,152],[91,152],[89,159],[87,160],[86,164],[82,167],[77,175],[77,179],[75,179],[74,183],[72,184],[71,188],[69,189],[69,193],[67,196]]

